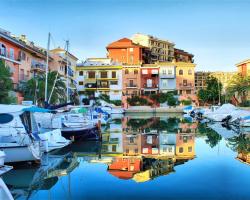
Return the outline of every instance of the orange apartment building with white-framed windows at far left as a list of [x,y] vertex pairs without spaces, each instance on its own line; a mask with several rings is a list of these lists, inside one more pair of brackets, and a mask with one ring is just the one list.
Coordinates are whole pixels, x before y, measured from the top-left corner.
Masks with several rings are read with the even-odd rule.
[[[32,46],[33,45],[33,46]],[[18,103],[23,100],[17,91],[21,81],[27,81],[37,72],[45,71],[46,54],[34,44],[27,45],[22,39],[16,39],[10,32],[0,30],[0,59],[10,67],[14,84],[14,96]]]

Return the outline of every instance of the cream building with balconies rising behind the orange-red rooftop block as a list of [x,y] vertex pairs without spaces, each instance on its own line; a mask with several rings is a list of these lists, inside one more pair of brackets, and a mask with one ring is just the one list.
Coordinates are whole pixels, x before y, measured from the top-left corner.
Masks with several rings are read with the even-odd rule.
[[173,42],[141,33],[134,34],[131,39],[134,43],[148,47],[151,50],[151,63],[172,61],[174,59],[175,44]]

